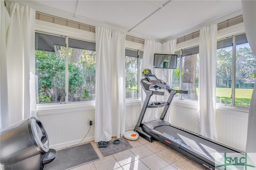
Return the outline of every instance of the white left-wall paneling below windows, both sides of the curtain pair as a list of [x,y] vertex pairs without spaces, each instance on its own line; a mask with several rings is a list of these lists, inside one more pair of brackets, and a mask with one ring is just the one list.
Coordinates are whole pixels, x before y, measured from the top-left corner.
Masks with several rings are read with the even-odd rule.
[[[137,102],[138,103],[138,102]],[[77,108],[76,108],[77,109]],[[62,148],[73,144],[94,140],[95,109],[69,111],[67,109],[48,109],[38,111],[38,119],[43,124],[49,138],[51,148]],[[126,130],[133,130],[140,114],[140,105],[126,106]],[[90,128],[89,119],[93,125]],[[89,130],[90,128],[90,130]],[[89,132],[88,132],[89,130]]]

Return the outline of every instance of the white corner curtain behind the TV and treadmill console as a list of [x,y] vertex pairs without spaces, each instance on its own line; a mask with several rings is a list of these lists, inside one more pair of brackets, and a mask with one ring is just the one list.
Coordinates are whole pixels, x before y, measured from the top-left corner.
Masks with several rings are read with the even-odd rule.
[[[151,40],[145,40],[145,47],[144,47],[144,54],[142,58],[142,71],[144,69],[150,69],[152,71],[152,74],[156,75],[158,79],[162,79],[165,81],[168,85],[171,86],[172,82],[172,69],[157,69],[153,68],[154,63],[154,53],[162,53],[162,54],[174,54],[175,48],[176,48],[176,39],[170,40],[166,43],[160,43],[155,42]],[[140,73],[141,74],[141,73]],[[144,77],[143,77],[144,78]],[[168,92],[165,92],[164,96],[160,95],[153,95],[150,99],[150,102],[152,101],[167,101],[169,95]],[[146,99],[146,93],[142,91],[142,105],[144,104],[144,101]],[[147,109],[146,113],[144,115],[143,121],[151,121],[154,119],[159,119],[160,114],[162,113],[161,108],[154,108],[154,109]],[[166,116],[164,118],[165,121],[170,122],[169,114],[166,113]]]

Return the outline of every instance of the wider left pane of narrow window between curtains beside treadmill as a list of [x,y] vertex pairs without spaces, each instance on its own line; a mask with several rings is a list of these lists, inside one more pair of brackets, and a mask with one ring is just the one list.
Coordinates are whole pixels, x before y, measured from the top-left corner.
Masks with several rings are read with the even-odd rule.
[[[136,51],[137,52],[137,51]],[[126,98],[137,98],[137,57],[125,57],[125,89]]]

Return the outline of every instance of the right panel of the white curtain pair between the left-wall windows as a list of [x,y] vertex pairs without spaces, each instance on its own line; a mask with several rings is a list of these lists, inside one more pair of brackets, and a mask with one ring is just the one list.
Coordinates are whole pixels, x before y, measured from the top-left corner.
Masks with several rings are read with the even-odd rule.
[[126,34],[112,33],[112,93],[111,118],[112,136],[120,138],[125,132],[126,95],[125,95],[125,38]]

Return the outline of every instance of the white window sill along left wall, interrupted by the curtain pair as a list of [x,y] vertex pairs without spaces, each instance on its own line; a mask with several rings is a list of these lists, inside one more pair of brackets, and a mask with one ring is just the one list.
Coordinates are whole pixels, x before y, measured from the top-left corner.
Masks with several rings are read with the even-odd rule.
[[[126,106],[140,105],[141,99],[126,99]],[[37,105],[37,115],[95,110],[95,101]]]

